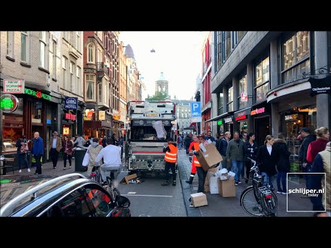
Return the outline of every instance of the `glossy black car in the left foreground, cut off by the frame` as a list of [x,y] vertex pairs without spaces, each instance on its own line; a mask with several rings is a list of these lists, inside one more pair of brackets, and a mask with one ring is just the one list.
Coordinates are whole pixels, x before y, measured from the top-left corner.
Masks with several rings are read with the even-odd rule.
[[130,200],[110,194],[94,180],[74,173],[20,194],[1,207],[1,217],[130,217]]

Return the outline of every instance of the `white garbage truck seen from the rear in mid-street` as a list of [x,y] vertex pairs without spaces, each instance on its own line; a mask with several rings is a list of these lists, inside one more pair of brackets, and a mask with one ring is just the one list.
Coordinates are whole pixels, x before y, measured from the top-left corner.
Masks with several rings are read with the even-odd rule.
[[176,104],[172,101],[129,101],[126,116],[126,166],[129,174],[162,174],[163,147],[177,141]]

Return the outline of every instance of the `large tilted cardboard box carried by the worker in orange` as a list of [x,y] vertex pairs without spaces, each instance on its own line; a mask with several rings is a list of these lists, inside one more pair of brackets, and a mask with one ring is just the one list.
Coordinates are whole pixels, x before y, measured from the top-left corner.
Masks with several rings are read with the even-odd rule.
[[214,143],[204,145],[202,149],[200,147],[197,158],[205,172],[207,172],[208,169],[215,167],[217,163],[222,161],[222,156],[219,154],[219,151],[215,147]]

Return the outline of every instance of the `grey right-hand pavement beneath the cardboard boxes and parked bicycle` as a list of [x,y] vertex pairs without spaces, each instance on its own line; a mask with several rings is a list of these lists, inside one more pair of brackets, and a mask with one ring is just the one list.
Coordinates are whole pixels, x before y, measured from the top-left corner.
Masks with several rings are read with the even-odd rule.
[[[188,216],[226,216],[226,217],[240,217],[240,216],[249,216],[245,213],[239,203],[241,192],[250,186],[245,183],[245,179],[241,179],[241,184],[239,184],[237,189],[236,197],[223,198],[219,194],[210,194],[205,193],[208,200],[208,205],[203,207],[190,207],[190,194],[197,193],[198,189],[198,175],[194,176],[194,180],[191,185],[185,183],[185,180],[188,180],[191,172],[191,163],[189,161],[188,155],[186,155],[185,150],[178,152],[178,164],[179,164],[179,177],[181,180],[181,185],[183,189],[183,195],[185,199],[185,207],[188,212]],[[290,188],[290,181],[288,187]],[[276,182],[274,182],[276,185]],[[292,185],[293,186],[293,185]],[[299,185],[298,185],[299,186]],[[304,185],[300,185],[304,187]],[[301,198],[299,194],[290,194],[282,195],[277,194],[278,199],[278,211],[277,216],[312,216],[312,213],[308,212],[288,212],[287,211],[287,197],[288,202],[293,205],[299,205],[302,209],[311,209],[312,205],[309,198]],[[290,206],[290,205],[289,205]]]

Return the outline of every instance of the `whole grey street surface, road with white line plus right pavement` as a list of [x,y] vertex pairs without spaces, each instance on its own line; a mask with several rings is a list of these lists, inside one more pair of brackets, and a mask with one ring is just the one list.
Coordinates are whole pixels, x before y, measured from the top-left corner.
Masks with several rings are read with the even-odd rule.
[[[241,192],[248,187],[244,183],[241,183],[236,187],[237,195],[232,198],[223,198],[219,194],[206,193],[208,199],[208,206],[203,207],[190,207],[190,194],[197,192],[197,175],[194,177],[192,186],[185,183],[188,175],[190,175],[191,164],[188,160],[188,156],[185,154],[185,150],[181,150],[178,153],[179,158],[179,175],[177,175],[177,185],[174,187],[171,184],[169,186],[161,186],[164,181],[162,176],[141,178],[142,183],[138,184],[119,184],[119,191],[123,196],[130,199],[130,209],[132,216],[137,217],[156,217],[156,216],[201,216],[201,217],[245,217],[248,214],[243,211],[239,205],[239,198]],[[74,160],[72,161],[72,169],[62,169],[63,161],[59,161],[57,169],[52,169],[51,163],[43,164],[43,174],[34,175],[34,169],[31,172],[27,172],[23,169],[21,174],[16,171],[14,176],[8,174],[1,176],[1,206],[8,202],[8,200],[14,198],[18,194],[25,192],[26,190],[39,185],[50,178],[61,176],[63,174],[74,172]],[[127,176],[125,167],[123,167],[119,180],[124,176]],[[289,183],[289,187],[290,187]],[[312,216],[311,213],[305,212],[287,212],[286,211],[286,198],[289,198],[288,202],[292,206],[301,205],[301,209],[310,209],[311,203],[309,198],[301,198],[299,194],[292,195],[279,195],[277,198],[279,201],[277,216],[279,217],[297,217],[297,216]]]

